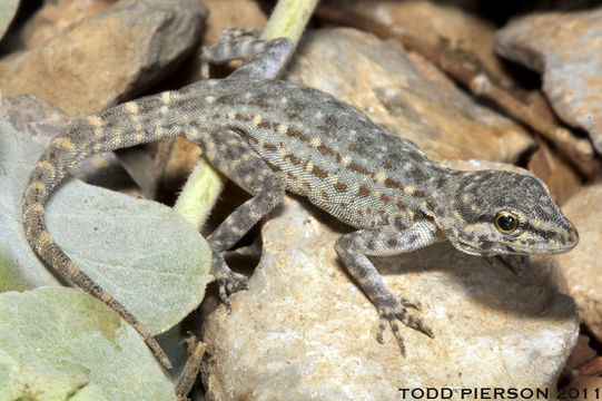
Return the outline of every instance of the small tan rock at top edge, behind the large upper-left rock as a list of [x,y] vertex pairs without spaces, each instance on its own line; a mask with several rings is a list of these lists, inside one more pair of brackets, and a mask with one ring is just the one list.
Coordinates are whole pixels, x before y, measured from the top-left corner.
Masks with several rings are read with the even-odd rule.
[[105,11],[116,2],[117,0],[47,0],[26,23],[22,32],[23,45],[28,48],[42,45],[71,23]]

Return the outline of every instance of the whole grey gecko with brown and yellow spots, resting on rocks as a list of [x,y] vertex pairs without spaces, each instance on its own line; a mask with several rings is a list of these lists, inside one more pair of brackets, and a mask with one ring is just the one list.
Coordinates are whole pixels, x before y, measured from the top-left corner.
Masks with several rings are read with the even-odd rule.
[[444,167],[396,131],[326,92],[274,79],[293,51],[285,38],[227,30],[205,52],[210,62],[246,59],[226,79],[203,79],[179,90],[131,100],[83,117],[57,136],[34,165],[22,198],[31,247],[75,285],[117,311],[169,368],[146,327],[87,276],[57,245],[45,223],[45,203],[68,170],[87,156],[184,136],[251,198],[207,238],[219,296],[247,287],[223,253],[282,202],[305,196],[355,229],[336,253],[378,313],[376,339],[391,327],[406,354],[398,322],[434,333],[394,295],[368,256],[392,256],[437,242],[472,255],[551,255],[573,248],[575,226],[536,177],[503,170]]

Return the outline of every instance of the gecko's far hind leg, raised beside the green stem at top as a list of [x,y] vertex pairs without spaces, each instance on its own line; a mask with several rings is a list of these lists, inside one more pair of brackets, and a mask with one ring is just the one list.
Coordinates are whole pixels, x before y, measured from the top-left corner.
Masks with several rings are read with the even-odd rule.
[[201,56],[201,77],[209,76],[209,63],[244,60],[228,79],[275,79],[294,50],[287,38],[257,39],[259,30],[228,27],[219,40]]

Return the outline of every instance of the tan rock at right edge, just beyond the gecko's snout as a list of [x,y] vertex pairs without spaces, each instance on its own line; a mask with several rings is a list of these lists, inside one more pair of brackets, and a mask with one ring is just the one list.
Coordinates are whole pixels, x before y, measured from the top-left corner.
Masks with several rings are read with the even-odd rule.
[[573,196],[563,207],[579,229],[580,243],[557,262],[566,278],[569,294],[575,299],[581,321],[602,341],[602,185]]

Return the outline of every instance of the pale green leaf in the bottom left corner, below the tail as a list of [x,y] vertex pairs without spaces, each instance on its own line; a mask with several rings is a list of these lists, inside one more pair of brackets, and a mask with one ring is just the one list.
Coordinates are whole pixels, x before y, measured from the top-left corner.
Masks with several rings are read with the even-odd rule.
[[0,294],[0,400],[175,400],[140,335],[75,288]]

